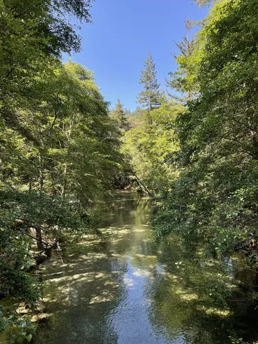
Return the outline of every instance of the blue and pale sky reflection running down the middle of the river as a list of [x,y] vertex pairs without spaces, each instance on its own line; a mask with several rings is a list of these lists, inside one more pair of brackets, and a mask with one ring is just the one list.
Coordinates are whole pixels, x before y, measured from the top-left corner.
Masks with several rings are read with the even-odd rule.
[[[126,208],[125,206],[124,209]],[[173,336],[170,332],[169,336],[166,327],[155,322],[153,297],[164,268],[157,264],[157,246],[149,240],[149,209],[143,207],[143,211],[133,209],[129,213],[122,211],[120,217],[116,217],[120,222],[118,236],[124,231],[124,227],[127,228],[127,225],[121,224],[126,224],[128,217],[131,228],[127,235],[120,237],[120,243],[116,239],[111,240],[113,251],[122,248],[124,258],[120,257],[118,261],[122,260],[125,267],[121,279],[124,297],[108,317],[116,332],[117,343],[185,343],[178,332],[174,332]]]

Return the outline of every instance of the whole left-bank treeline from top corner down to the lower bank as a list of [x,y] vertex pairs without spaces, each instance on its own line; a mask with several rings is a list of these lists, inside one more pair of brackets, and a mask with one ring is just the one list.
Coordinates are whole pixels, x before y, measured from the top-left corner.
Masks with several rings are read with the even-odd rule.
[[[31,340],[16,313],[33,305],[35,259],[85,233],[119,169],[119,132],[92,72],[63,52],[80,50],[73,17],[90,1],[0,1],[0,332]],[[67,18],[67,19],[66,19]],[[74,20],[73,20],[74,21]]]

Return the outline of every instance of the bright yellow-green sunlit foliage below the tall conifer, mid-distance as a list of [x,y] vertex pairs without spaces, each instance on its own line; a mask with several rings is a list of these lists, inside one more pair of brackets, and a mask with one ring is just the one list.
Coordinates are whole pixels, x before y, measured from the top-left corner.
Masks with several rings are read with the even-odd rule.
[[[153,193],[166,192],[175,178],[167,164],[169,155],[177,151],[175,119],[182,105],[164,103],[158,109],[135,115],[133,127],[125,133],[122,152],[129,159],[133,171]],[[151,116],[151,125],[149,118]]]

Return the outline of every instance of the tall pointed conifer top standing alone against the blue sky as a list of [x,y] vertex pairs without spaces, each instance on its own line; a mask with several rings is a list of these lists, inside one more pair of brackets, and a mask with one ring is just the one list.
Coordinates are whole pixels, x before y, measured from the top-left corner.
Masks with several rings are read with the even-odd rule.
[[144,85],[144,91],[138,96],[138,103],[149,111],[160,107],[160,84],[156,77],[155,63],[151,54],[148,54],[147,61],[144,61],[145,69],[140,75],[140,84]]

